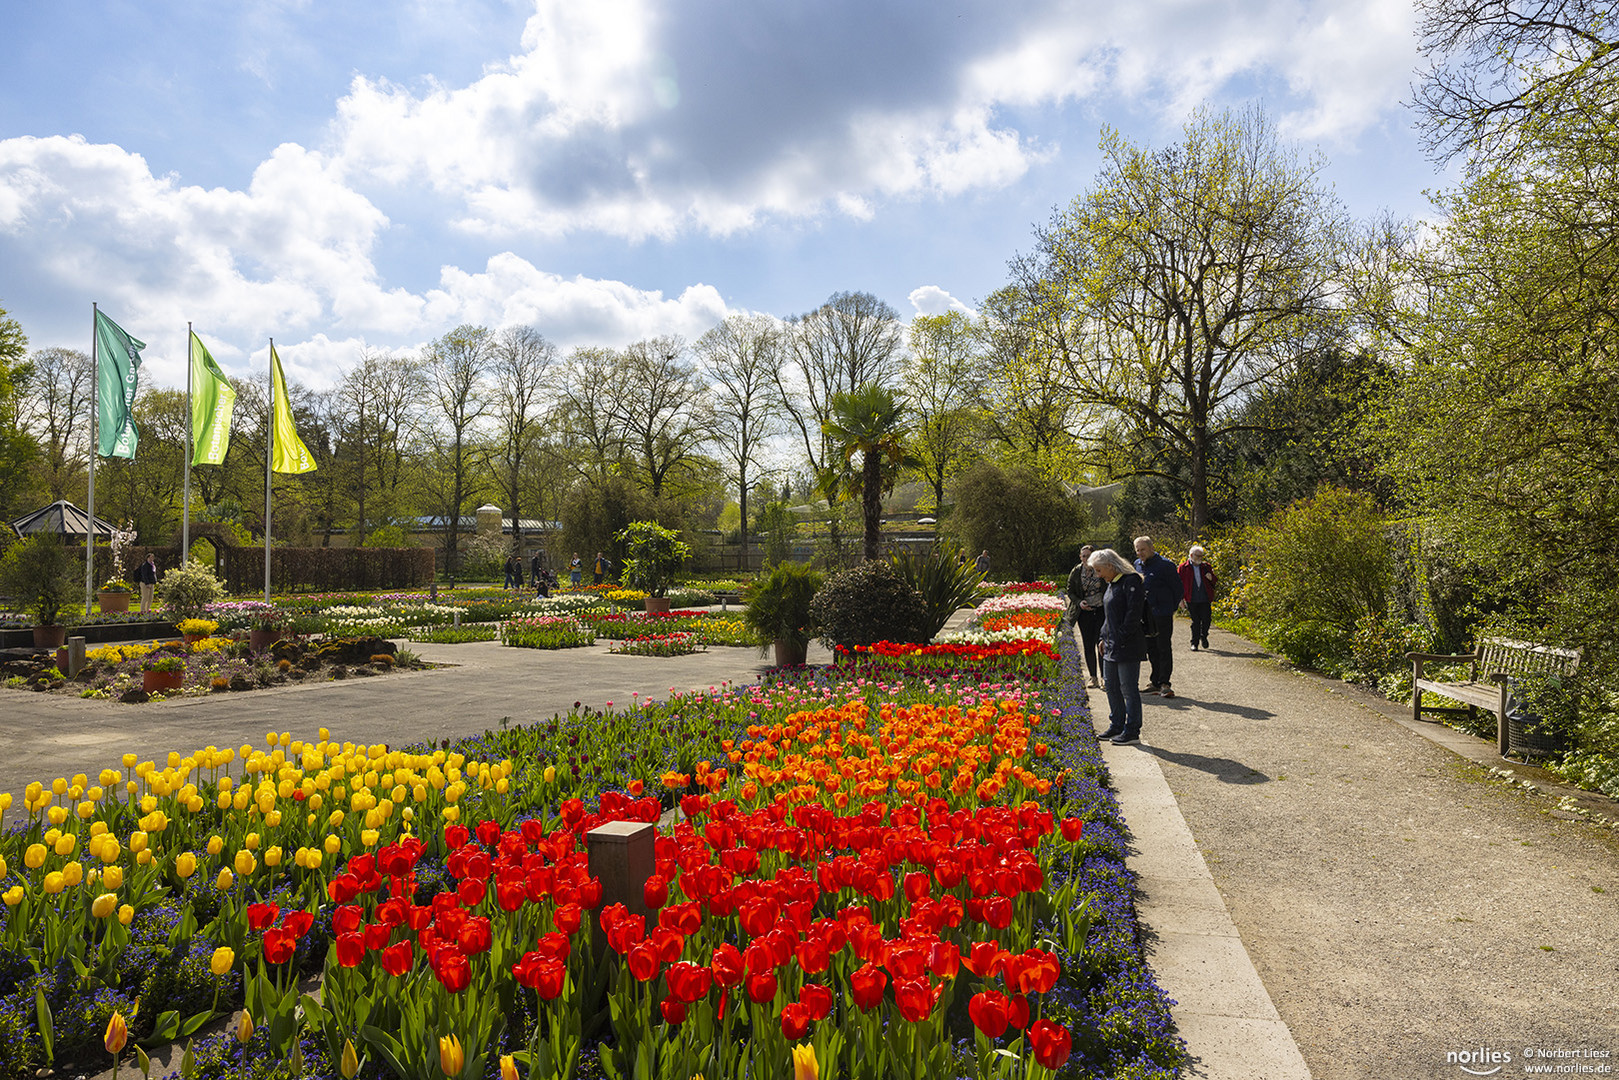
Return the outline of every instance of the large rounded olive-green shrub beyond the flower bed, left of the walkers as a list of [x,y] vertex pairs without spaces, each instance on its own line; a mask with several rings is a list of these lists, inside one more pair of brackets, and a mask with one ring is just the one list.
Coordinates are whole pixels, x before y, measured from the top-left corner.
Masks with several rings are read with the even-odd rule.
[[955,486],[950,528],[968,551],[989,551],[1020,581],[1052,568],[1057,547],[1085,525],[1085,510],[1062,487],[1026,468],[975,465]]

